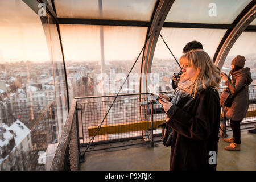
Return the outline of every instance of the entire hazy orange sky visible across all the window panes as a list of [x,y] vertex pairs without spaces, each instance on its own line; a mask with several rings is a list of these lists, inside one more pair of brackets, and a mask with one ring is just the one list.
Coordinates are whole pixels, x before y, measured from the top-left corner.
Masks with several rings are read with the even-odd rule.
[[[56,1],[56,5],[61,1]],[[67,6],[68,1],[63,1],[63,7]],[[74,2],[82,3],[82,1],[73,1],[72,7],[78,8],[80,5]],[[88,1],[86,1],[88,2]],[[92,1],[90,1],[92,2]],[[93,1],[94,2],[94,1]],[[107,2],[107,1],[104,1]],[[109,1],[110,5],[115,5],[117,1]],[[122,1],[127,2],[127,1]],[[139,17],[139,14],[128,16],[133,13],[135,1],[129,3],[118,3],[117,6],[127,7],[125,11],[126,17]],[[147,4],[147,8],[151,11],[154,1],[146,0],[140,2]],[[219,2],[219,1],[217,1]],[[240,2],[240,1],[239,1]],[[236,3],[239,3],[236,1]],[[241,6],[246,5],[247,1],[243,1]],[[95,5],[93,5],[95,6]],[[189,5],[192,6],[192,5]],[[111,10],[112,6],[105,9]],[[179,6],[178,6],[179,7]],[[176,5],[174,10],[177,9]],[[39,16],[32,11],[21,0],[0,1],[0,60],[31,60],[44,61],[50,60],[49,49],[47,47],[46,36]],[[81,10],[80,8],[79,10]],[[94,9],[96,11],[96,9]],[[138,11],[136,9],[136,11]],[[64,13],[63,11],[62,13]],[[75,13],[76,11],[73,11]],[[145,14],[146,10],[143,9]],[[69,15],[71,13],[69,12]],[[108,17],[110,14],[106,14]],[[113,19],[117,17],[118,12],[113,12]],[[115,16],[115,17],[114,17]],[[148,15],[141,15],[141,19],[146,19]],[[169,17],[170,15],[168,15]],[[111,17],[110,17],[111,18]],[[147,32],[146,27],[121,27],[121,26],[103,26],[104,30],[104,50],[105,60],[134,60],[141,51]],[[56,27],[51,26],[52,39],[57,42]],[[220,43],[222,36],[226,30],[210,30],[195,28],[162,28],[161,34],[166,40],[168,46],[176,57],[181,56],[181,51],[185,44],[189,41],[197,40],[203,44],[204,50],[208,52],[210,57],[214,56],[214,52]],[[90,25],[60,25],[61,38],[63,41],[64,56],[66,60],[74,61],[94,61],[100,60],[100,26]],[[47,39],[49,37],[47,36]],[[60,49],[53,46],[53,53],[60,55]],[[238,38],[236,44],[230,51],[229,55],[246,55],[256,53],[256,32],[243,32]],[[56,53],[58,52],[58,53]],[[155,57],[160,59],[172,58],[163,40],[159,37],[155,49]]]

